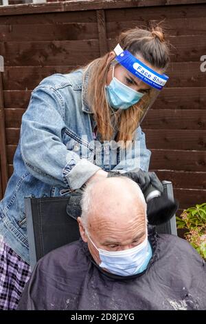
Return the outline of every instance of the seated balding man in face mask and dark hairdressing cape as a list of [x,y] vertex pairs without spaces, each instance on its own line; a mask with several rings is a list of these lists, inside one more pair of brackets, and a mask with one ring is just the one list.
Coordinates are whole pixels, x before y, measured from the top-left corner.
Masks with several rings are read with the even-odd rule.
[[38,261],[19,310],[204,310],[205,262],[192,246],[147,225],[126,178],[84,190],[81,239]]

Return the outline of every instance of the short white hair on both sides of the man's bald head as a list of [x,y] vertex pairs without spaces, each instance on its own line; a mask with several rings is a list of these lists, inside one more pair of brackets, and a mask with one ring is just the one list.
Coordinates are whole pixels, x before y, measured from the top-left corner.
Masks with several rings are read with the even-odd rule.
[[[141,189],[139,185],[131,180],[130,178],[126,176],[119,176],[117,179],[123,179],[124,181],[128,182],[130,186],[133,186],[134,191],[136,190],[137,195],[139,199],[141,200],[141,203],[144,205],[144,212],[146,216],[146,201],[144,199],[144,194],[141,192]],[[93,209],[93,188],[95,184],[98,181],[92,181],[91,183],[88,183],[86,188],[84,188],[84,192],[82,194],[82,200],[81,200],[81,207],[82,207],[82,225],[87,230],[88,225],[88,215]],[[146,217],[146,223],[147,223],[147,217]]]

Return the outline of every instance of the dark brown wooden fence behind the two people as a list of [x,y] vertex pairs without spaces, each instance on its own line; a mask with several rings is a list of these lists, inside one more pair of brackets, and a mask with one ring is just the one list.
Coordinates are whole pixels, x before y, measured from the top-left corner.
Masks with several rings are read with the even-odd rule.
[[142,128],[151,169],[171,180],[181,210],[206,201],[205,1],[65,1],[0,8],[0,198],[12,174],[21,116],[32,89],[116,44],[119,31],[164,20],[173,45],[170,80]]

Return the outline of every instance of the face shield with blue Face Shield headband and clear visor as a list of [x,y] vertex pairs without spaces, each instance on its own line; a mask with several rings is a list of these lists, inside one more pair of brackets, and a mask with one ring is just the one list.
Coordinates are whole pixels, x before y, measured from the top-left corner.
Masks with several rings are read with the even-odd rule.
[[139,59],[134,57],[134,55],[131,54],[128,50],[123,50],[119,44],[115,47],[114,52],[117,55],[115,57],[115,60],[119,64],[124,66],[126,70],[132,73],[139,80],[146,83],[146,85],[150,86],[149,92],[144,94],[144,96],[141,97],[141,99],[136,104],[140,112],[140,124],[152,104],[157,99],[160,90],[168,81],[169,77],[165,74],[159,74],[155,70],[152,70],[146,64],[142,63],[141,61],[139,61]]

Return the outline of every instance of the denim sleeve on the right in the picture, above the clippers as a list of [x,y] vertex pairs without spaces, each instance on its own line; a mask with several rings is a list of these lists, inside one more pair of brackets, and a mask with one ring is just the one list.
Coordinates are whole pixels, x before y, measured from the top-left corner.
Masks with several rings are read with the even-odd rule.
[[111,171],[137,172],[139,169],[148,171],[151,152],[146,148],[145,134],[139,126],[135,131],[133,144],[126,150],[120,150],[119,163]]

